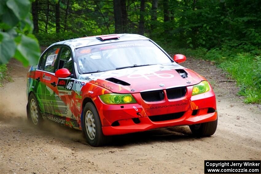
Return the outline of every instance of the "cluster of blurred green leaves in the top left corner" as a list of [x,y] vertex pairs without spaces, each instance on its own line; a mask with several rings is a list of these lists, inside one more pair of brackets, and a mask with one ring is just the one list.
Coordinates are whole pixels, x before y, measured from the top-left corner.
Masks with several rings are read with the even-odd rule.
[[40,48],[32,31],[29,0],[0,2],[0,65],[12,57],[24,66],[37,63]]

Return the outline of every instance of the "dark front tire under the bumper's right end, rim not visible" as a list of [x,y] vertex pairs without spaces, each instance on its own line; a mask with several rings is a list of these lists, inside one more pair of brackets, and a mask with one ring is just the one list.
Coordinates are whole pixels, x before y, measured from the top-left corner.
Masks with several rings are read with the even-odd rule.
[[196,137],[212,136],[216,132],[216,127],[217,119],[215,121],[189,126],[192,134]]

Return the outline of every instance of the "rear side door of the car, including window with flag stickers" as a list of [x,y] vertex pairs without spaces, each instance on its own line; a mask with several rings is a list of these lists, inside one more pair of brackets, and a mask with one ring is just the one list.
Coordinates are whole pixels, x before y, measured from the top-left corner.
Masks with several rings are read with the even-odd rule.
[[55,92],[57,77],[54,75],[56,59],[59,54],[60,47],[51,47],[45,51],[42,56],[36,72],[37,86],[35,95],[39,102],[42,112],[54,115],[53,103],[55,101]]

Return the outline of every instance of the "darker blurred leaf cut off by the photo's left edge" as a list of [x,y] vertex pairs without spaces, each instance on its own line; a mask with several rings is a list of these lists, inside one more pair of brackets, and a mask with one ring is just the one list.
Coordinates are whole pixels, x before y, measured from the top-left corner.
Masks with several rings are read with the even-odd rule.
[[0,32],[0,64],[5,64],[14,56],[15,42],[9,34]]

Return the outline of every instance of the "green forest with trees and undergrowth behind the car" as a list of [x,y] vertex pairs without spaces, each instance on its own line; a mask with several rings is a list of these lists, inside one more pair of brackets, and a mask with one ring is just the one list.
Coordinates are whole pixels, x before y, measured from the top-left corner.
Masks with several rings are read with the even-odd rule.
[[2,0],[0,21],[1,64],[11,57],[36,63],[39,45],[57,40],[135,33],[170,55],[216,63],[236,80],[244,102],[261,103],[261,1]]

